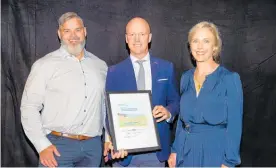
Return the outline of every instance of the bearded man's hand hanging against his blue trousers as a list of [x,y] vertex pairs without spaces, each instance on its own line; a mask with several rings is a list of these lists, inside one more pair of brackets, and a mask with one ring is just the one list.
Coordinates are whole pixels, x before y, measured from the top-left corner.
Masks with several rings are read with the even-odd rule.
[[56,156],[60,156],[60,153],[54,145],[48,146],[46,149],[41,151],[39,153],[39,160],[41,164],[43,164],[46,167],[57,167],[58,164],[54,157],[54,154]]

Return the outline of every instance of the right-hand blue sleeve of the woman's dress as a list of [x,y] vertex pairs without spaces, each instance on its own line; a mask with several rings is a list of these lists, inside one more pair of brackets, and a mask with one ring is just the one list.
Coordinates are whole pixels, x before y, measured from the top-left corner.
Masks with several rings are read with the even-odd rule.
[[231,73],[225,78],[227,87],[227,129],[225,142],[225,166],[233,167],[241,163],[240,141],[242,134],[243,91],[240,76]]

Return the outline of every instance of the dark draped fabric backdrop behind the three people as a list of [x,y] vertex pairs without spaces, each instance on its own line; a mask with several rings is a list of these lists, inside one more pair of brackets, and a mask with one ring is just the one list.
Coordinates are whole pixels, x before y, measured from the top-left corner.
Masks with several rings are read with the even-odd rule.
[[242,166],[276,166],[275,0],[2,0],[1,165],[36,166],[24,135],[20,101],[35,60],[57,49],[57,19],[77,12],[87,26],[86,48],[108,65],[126,58],[125,24],[134,16],[152,27],[151,53],[172,61],[177,80],[192,67],[187,32],[212,21],[223,39],[222,64],[244,89]]

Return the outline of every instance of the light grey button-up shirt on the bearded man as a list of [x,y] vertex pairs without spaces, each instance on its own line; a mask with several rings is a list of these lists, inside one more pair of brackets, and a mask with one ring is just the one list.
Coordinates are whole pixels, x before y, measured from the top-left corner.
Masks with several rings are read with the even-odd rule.
[[102,135],[107,65],[84,53],[78,60],[60,47],[32,66],[22,96],[21,121],[38,152],[51,145],[46,137],[51,131]]

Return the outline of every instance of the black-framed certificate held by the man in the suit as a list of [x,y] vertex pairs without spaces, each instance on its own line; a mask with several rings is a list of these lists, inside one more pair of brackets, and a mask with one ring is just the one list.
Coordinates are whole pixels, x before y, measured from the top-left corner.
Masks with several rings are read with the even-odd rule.
[[115,150],[136,153],[161,149],[150,91],[107,92],[106,102]]

